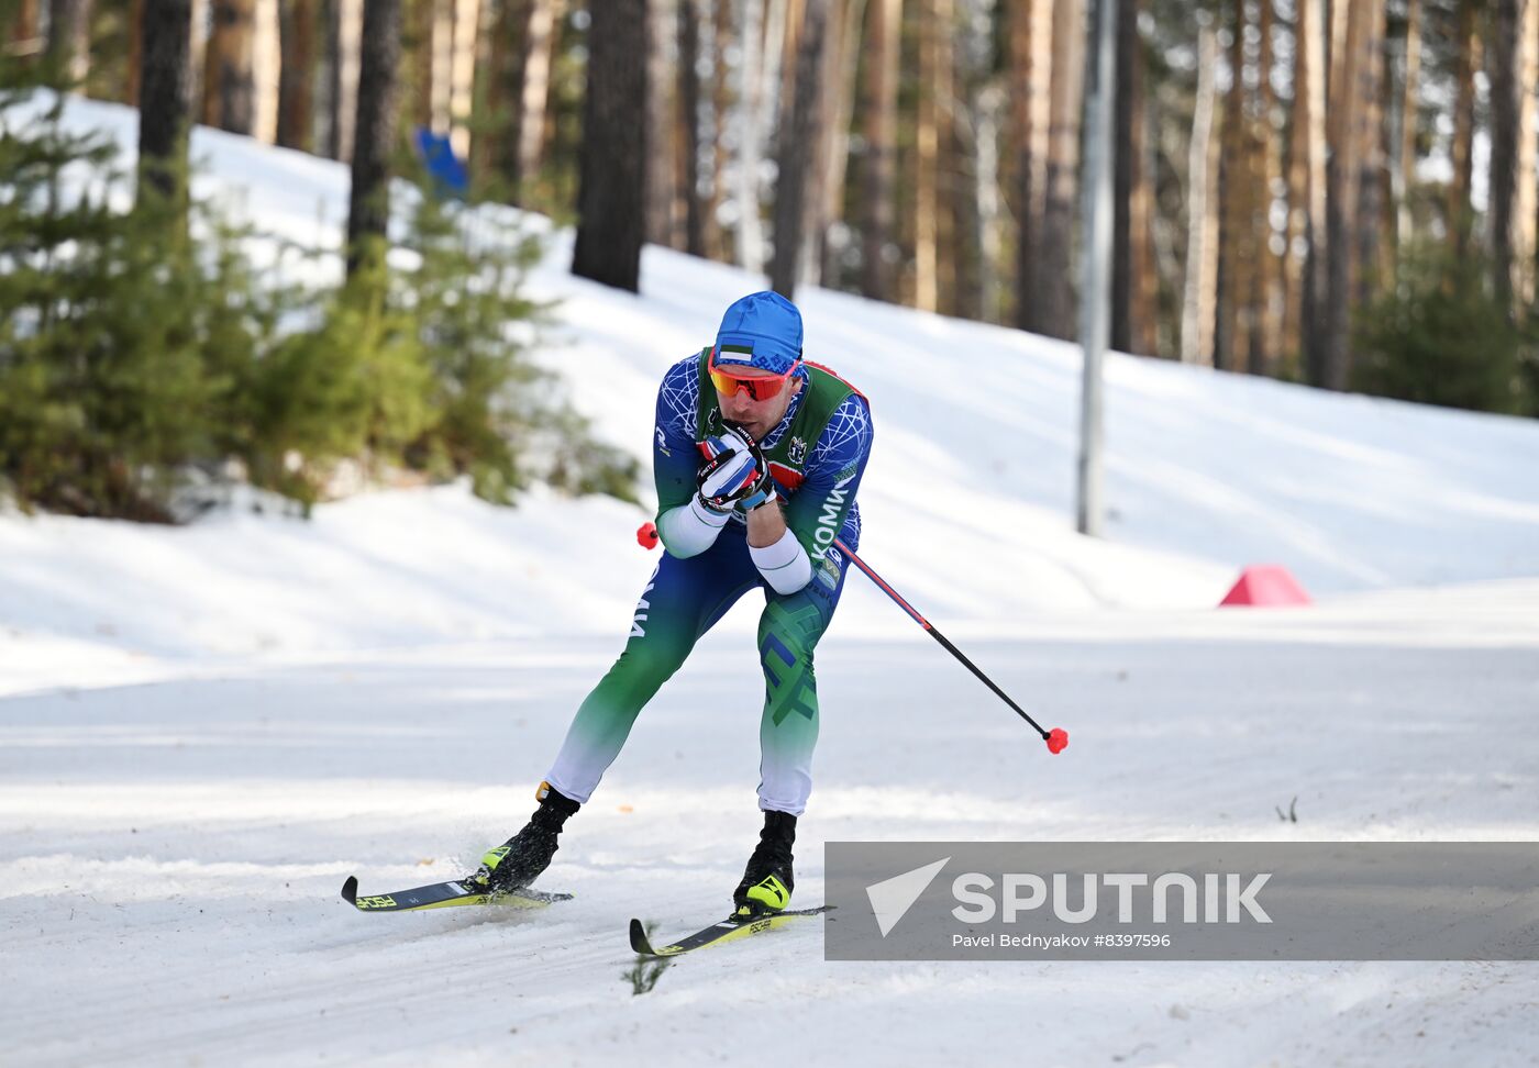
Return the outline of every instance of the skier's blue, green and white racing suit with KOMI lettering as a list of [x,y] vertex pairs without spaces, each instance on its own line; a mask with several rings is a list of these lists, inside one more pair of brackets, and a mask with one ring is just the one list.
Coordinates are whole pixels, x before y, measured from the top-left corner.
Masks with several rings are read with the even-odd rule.
[[705,528],[679,511],[699,508],[696,472],[706,456],[705,442],[723,429],[706,375],[708,355],[705,349],[676,363],[657,391],[653,472],[657,529],[666,552],[642,591],[625,651],[577,709],[546,782],[586,802],[646,702],[683,665],[700,636],[739,597],[760,588],[765,705],[759,725],[759,808],[800,816],[813,791],[817,743],[813,651],[843,591],[848,560],[834,548],[834,539],[859,548],[856,492],[871,454],[871,409],[834,372],[800,365],[796,374],[802,389],[760,442],[794,536],[794,542],[782,539],[777,559],[768,560],[765,549],[749,551],[742,512],[702,537]]

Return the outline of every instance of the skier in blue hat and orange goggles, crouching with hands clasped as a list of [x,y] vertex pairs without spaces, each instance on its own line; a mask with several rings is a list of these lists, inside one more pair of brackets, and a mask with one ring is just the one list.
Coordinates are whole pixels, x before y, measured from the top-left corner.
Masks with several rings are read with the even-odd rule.
[[642,592],[620,659],[588,694],[539,808],[471,877],[492,893],[528,886],[597,788],[653,694],[749,589],[765,592],[759,659],[763,829],[733,891],[737,917],[782,911],[794,879],[796,820],[813,789],[813,649],[859,548],[856,491],[871,452],[865,397],[802,359],[802,312],[774,292],[733,303],[716,345],[673,365],[657,391],[653,469],[662,562]]

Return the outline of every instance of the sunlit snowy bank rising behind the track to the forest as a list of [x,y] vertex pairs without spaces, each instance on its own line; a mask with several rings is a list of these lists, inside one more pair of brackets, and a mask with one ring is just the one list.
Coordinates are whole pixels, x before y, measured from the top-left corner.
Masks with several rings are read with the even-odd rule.
[[[135,140],[125,108],[78,102],[71,122],[115,132],[125,151]],[[263,228],[320,242],[340,232],[345,168],[202,128],[192,151],[206,163],[200,189]],[[326,225],[317,229],[317,220]],[[540,219],[529,225],[548,229]],[[709,342],[722,308],[762,282],[648,248],[637,297],[573,279],[568,260],[569,234],[557,232],[532,279],[540,295],[560,302],[565,323],[545,339],[542,359],[571,372],[573,394],[600,432],[649,457],[663,368]],[[1207,608],[1240,566],[1257,562],[1287,565],[1316,596],[1539,574],[1536,420],[1111,355],[1108,537],[1090,540],[1071,519],[1073,345],[819,289],[799,300],[808,355],[871,397],[877,446],[862,488],[865,556],[937,622],[1003,625],[1047,608]],[[336,616],[368,617],[369,642],[511,634],[520,620],[563,632],[613,629],[649,569],[640,549],[623,548],[643,512],[537,497],[509,517],[449,503],[459,492],[354,500],[322,509],[311,526],[219,519],[172,537],[98,534],[97,525],[75,532],[68,520],[6,523],[0,552],[26,562],[32,589],[5,617],[55,631],[60,612],[94,616],[92,625],[152,628],[145,643],[162,649],[177,640],[197,649],[334,646],[351,640]],[[549,554],[569,539],[577,552]],[[297,546],[315,542],[349,562],[346,574],[306,583],[314,603],[268,585],[266,566],[246,569],[223,609],[211,603],[217,583],[199,583],[197,603],[186,603],[179,583],[157,577],[168,554],[191,566],[222,552],[292,560]],[[423,592],[397,565],[434,549],[469,572]],[[109,583],[62,588],[54,572],[82,556],[114,582],[163,594],[165,608],[140,597],[135,619],[120,622]],[[549,583],[522,583],[553,559],[565,566]],[[52,597],[65,603],[43,608]],[[419,597],[422,611],[391,608]],[[876,608],[850,603],[842,628],[903,626]]]

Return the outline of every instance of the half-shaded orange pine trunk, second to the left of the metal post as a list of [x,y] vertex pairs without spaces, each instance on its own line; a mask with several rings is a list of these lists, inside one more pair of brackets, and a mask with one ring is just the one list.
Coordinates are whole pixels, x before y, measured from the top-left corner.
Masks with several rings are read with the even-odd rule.
[[1016,326],[1042,329],[1039,259],[1047,203],[1048,85],[1053,74],[1053,0],[1010,8],[1010,125],[1014,129]]

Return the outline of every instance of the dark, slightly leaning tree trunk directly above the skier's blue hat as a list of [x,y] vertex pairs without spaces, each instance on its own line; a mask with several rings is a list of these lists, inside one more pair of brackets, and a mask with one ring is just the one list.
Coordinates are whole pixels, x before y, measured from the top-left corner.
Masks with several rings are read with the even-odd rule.
[[808,174],[816,163],[819,97],[822,91],[823,46],[828,34],[828,0],[806,0],[805,25],[796,49],[796,102],[791,128],[780,137],[774,197],[774,257],[770,260],[770,288],[786,300],[796,291],[802,260],[802,234],[806,226]]

